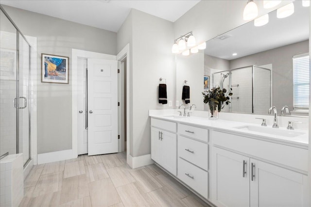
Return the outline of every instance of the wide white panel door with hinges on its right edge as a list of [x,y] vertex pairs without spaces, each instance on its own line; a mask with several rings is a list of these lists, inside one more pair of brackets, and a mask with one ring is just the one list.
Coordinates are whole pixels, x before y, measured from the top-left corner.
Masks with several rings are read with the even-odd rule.
[[118,152],[117,61],[87,59],[88,155]]

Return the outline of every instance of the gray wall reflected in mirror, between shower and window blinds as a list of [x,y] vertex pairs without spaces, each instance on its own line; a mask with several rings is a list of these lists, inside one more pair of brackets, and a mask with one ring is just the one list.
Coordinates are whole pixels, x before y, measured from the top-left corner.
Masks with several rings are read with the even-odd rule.
[[230,61],[230,69],[272,64],[272,101],[278,112],[287,105],[293,110],[293,55],[309,52],[309,40],[270,49]]

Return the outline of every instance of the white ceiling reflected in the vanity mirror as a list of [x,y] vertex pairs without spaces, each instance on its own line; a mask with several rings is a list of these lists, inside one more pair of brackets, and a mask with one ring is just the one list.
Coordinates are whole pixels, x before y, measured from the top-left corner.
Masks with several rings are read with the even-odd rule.
[[[276,10],[269,13],[268,24],[255,27],[250,21],[225,34],[207,41],[205,54],[225,60],[301,42],[309,39],[310,8],[294,1],[294,14],[276,18]],[[224,39],[221,39],[224,37]],[[236,56],[232,56],[237,53]]]

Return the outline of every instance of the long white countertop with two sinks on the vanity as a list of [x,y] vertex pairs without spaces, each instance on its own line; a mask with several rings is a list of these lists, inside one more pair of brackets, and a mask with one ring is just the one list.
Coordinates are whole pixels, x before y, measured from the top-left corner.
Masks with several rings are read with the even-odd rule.
[[[260,124],[252,124],[252,123],[246,123],[246,122],[238,122],[238,121],[228,121],[228,120],[222,120],[222,119],[216,119],[216,120],[210,120],[208,118],[203,117],[196,117],[196,116],[190,116],[187,118],[173,118],[173,116],[176,116],[176,114],[150,114],[150,117],[162,119],[166,121],[172,121],[182,124],[190,124],[195,125],[198,127],[207,127],[210,129],[216,129],[219,131],[224,132],[234,132],[241,135],[246,136],[252,136],[257,139],[262,139],[266,141],[273,141],[277,143],[283,143],[283,144],[290,144],[299,146],[302,148],[308,149],[308,140],[309,140],[309,133],[308,130],[302,130],[302,129],[294,129],[294,132],[301,132],[302,135],[298,135],[295,137],[286,137],[286,136],[280,136],[280,135],[274,135],[274,134],[268,134],[268,133],[261,133],[256,131],[249,131],[245,129],[235,128],[235,127],[242,127],[242,126],[256,126],[261,127]],[[271,127],[272,126],[267,126]],[[274,130],[272,128],[272,130]],[[282,130],[283,133],[290,133],[292,130],[288,130],[285,127],[279,127],[276,130]]]

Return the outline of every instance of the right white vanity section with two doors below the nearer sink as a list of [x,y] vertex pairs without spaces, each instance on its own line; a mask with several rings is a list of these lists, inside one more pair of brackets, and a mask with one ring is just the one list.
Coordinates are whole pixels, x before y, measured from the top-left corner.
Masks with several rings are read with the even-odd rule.
[[[308,198],[307,175],[303,173],[308,166],[304,163],[305,158],[289,156],[291,160],[281,160],[281,157],[287,159],[288,154],[294,155],[293,152],[307,158],[308,150],[218,131],[212,134],[214,204],[241,207],[308,205],[304,200]],[[272,153],[270,145],[274,146],[274,156],[260,160]],[[286,153],[282,151],[284,147]]]

